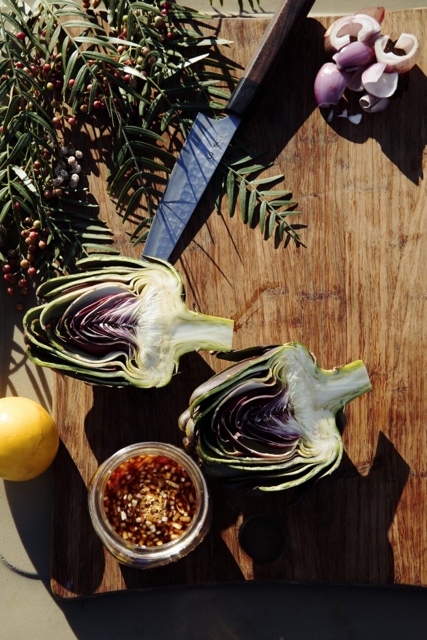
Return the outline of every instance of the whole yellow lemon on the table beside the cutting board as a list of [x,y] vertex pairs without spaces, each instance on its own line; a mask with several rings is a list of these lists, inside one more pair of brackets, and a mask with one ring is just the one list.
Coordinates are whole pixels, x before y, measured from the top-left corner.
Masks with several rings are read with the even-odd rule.
[[29,398],[0,399],[0,477],[30,480],[44,472],[58,451],[56,424]]

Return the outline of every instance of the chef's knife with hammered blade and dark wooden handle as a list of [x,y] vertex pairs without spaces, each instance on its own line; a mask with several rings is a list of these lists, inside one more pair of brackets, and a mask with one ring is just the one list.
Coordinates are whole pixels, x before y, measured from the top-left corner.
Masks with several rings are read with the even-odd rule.
[[292,27],[306,17],[313,4],[314,0],[282,0],[231,94],[226,105],[228,116],[212,120],[201,113],[197,115],[163,192],[142,256],[169,259],[274,58]]

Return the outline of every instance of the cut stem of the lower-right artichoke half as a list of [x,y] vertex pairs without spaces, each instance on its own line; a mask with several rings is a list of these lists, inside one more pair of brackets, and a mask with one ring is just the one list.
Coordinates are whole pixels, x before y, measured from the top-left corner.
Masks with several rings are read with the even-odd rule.
[[314,404],[338,411],[351,400],[372,390],[371,381],[362,360],[337,369],[321,369],[322,378],[314,389]]

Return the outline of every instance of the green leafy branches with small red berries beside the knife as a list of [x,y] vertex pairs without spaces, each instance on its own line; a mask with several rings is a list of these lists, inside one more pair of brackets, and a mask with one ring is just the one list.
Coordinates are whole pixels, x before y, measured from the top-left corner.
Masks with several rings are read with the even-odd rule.
[[[122,221],[135,225],[131,240],[142,243],[181,147],[176,132],[185,139],[199,111],[224,116],[236,82],[235,65],[209,51],[230,42],[210,33],[208,16],[162,0],[107,0],[106,24],[92,11],[97,4],[38,0],[29,8],[3,0],[0,260],[11,290],[21,275],[21,293],[28,292],[26,271],[44,280],[72,271],[91,252],[115,251],[87,198],[84,170],[78,184],[75,174],[61,183],[71,177],[67,160],[75,160],[67,157],[68,127],[97,117],[114,131],[107,188]],[[238,194],[246,223],[259,219],[267,236],[278,225],[280,239],[298,242],[287,221],[296,203],[273,188],[283,175],[260,177],[269,164],[249,147],[240,136],[222,159],[212,182],[215,207],[226,193],[232,215]]]

